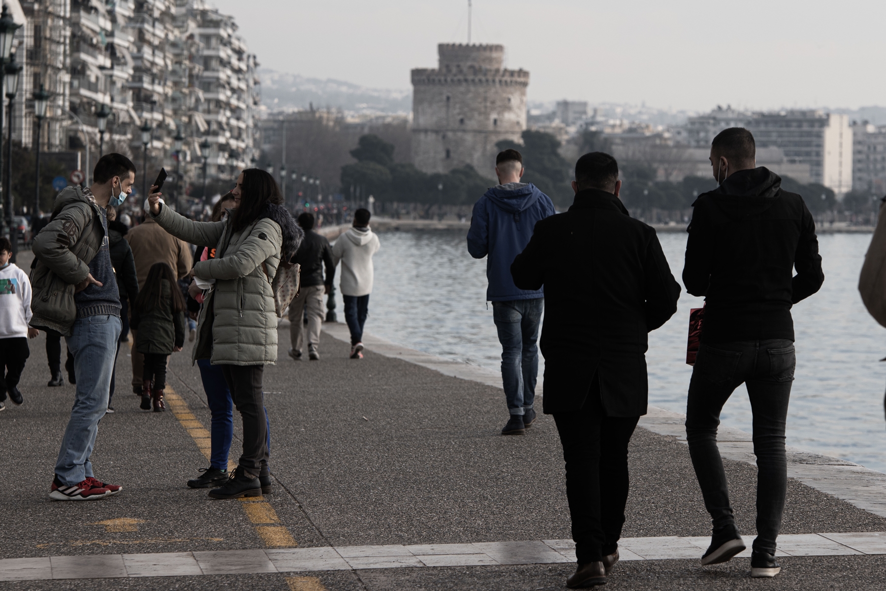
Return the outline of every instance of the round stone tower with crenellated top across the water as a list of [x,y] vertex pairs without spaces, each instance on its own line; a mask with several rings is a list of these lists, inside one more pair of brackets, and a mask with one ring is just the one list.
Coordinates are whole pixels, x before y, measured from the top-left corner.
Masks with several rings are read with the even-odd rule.
[[495,143],[520,141],[529,73],[506,70],[502,45],[440,43],[435,70],[412,71],[412,160],[426,173],[470,164],[494,178]]

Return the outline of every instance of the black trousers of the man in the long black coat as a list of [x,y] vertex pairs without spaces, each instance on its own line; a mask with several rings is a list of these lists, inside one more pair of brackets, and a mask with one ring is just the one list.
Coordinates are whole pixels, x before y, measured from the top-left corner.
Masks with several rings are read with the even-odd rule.
[[563,459],[572,540],[579,564],[602,560],[618,548],[630,482],[627,444],[639,416],[607,416],[595,379],[585,406],[554,415]]

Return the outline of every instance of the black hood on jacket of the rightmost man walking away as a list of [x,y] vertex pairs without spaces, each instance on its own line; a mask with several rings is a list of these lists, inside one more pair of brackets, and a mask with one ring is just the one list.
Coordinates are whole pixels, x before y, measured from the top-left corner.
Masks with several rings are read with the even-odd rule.
[[[739,170],[707,193],[713,203],[732,219],[760,214],[781,196],[781,176],[766,167]],[[699,197],[702,197],[701,195]]]

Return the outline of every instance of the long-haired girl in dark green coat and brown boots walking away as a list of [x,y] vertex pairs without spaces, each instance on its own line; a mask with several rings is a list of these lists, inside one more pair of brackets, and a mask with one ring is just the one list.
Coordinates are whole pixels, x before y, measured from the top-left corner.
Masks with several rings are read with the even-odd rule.
[[167,357],[184,346],[184,299],[167,263],[153,264],[132,308],[136,351],[144,354],[141,408],[150,410],[153,402],[154,412],[162,412]]

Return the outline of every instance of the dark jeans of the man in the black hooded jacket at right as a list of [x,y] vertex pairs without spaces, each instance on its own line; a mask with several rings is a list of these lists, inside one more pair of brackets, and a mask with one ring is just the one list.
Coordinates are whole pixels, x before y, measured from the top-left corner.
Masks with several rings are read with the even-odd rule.
[[797,357],[784,338],[702,344],[689,382],[686,436],[714,530],[734,525],[726,472],[717,447],[719,414],[734,389],[747,385],[757,455],[757,539],[754,549],[775,553],[788,488],[784,431]]

